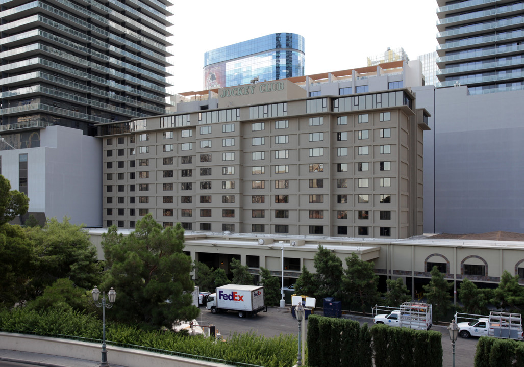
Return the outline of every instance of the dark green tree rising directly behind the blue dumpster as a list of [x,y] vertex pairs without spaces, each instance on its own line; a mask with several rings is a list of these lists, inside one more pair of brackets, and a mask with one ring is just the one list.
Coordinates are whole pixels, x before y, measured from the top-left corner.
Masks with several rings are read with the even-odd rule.
[[319,286],[315,295],[316,298],[340,296],[340,283],[343,273],[342,260],[319,244],[319,252],[315,254],[313,262]]

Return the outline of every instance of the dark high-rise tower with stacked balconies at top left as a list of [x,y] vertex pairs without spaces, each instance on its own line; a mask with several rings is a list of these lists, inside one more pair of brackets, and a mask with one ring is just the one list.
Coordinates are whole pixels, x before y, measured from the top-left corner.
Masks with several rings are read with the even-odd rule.
[[12,146],[40,146],[51,125],[95,136],[95,124],[167,113],[171,2],[0,5],[0,135]]

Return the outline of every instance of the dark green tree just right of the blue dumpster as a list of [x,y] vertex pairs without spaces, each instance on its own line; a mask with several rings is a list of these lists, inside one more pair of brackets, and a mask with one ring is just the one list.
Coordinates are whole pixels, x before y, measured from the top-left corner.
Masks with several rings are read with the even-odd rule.
[[346,258],[347,269],[342,276],[342,291],[347,301],[366,315],[366,305],[378,301],[378,275],[373,264],[358,258],[355,253]]

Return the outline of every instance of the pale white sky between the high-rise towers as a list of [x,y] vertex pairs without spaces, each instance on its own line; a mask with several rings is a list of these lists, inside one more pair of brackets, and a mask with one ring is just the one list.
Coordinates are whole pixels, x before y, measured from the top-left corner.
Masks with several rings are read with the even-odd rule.
[[410,60],[435,51],[434,0],[173,1],[170,93],[201,91],[204,52],[291,32],[305,39],[305,75],[362,68],[403,47]]

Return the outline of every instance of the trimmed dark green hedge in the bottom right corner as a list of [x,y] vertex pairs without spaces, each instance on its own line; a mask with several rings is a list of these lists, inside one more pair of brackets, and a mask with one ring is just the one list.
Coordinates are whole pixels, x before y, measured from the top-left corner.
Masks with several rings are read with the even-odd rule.
[[524,366],[524,344],[511,339],[481,337],[475,353],[475,367]]

